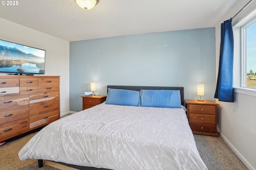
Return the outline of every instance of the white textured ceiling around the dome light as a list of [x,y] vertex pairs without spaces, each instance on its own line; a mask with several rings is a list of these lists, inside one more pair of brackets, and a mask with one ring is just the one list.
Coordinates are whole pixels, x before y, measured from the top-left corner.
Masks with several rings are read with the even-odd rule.
[[75,0],[18,0],[1,5],[0,17],[72,42],[215,27],[237,1],[99,0],[83,10]]

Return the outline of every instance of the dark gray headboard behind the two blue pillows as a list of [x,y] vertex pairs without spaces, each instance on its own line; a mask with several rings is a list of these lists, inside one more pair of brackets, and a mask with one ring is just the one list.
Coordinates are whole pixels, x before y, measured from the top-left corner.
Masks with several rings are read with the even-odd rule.
[[184,87],[161,87],[161,86],[127,86],[127,85],[107,85],[107,90],[110,89],[125,89],[125,90],[180,90],[181,105],[184,106]]

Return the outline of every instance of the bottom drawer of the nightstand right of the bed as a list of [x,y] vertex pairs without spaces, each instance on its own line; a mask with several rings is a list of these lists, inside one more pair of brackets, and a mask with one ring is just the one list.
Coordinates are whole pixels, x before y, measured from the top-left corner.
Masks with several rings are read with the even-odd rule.
[[190,122],[189,125],[193,132],[216,133],[216,127],[214,124],[191,123]]

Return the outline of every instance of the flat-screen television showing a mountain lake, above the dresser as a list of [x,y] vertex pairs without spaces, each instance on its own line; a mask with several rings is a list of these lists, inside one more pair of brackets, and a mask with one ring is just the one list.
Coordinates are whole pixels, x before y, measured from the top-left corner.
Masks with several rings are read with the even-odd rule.
[[45,50],[0,40],[0,72],[44,74]]

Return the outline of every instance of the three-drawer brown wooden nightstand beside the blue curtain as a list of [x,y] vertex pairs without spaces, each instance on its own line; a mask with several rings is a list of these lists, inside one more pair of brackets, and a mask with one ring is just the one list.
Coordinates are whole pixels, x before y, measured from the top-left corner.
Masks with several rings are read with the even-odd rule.
[[214,101],[184,100],[187,106],[187,117],[194,134],[205,134],[218,137],[217,105]]

